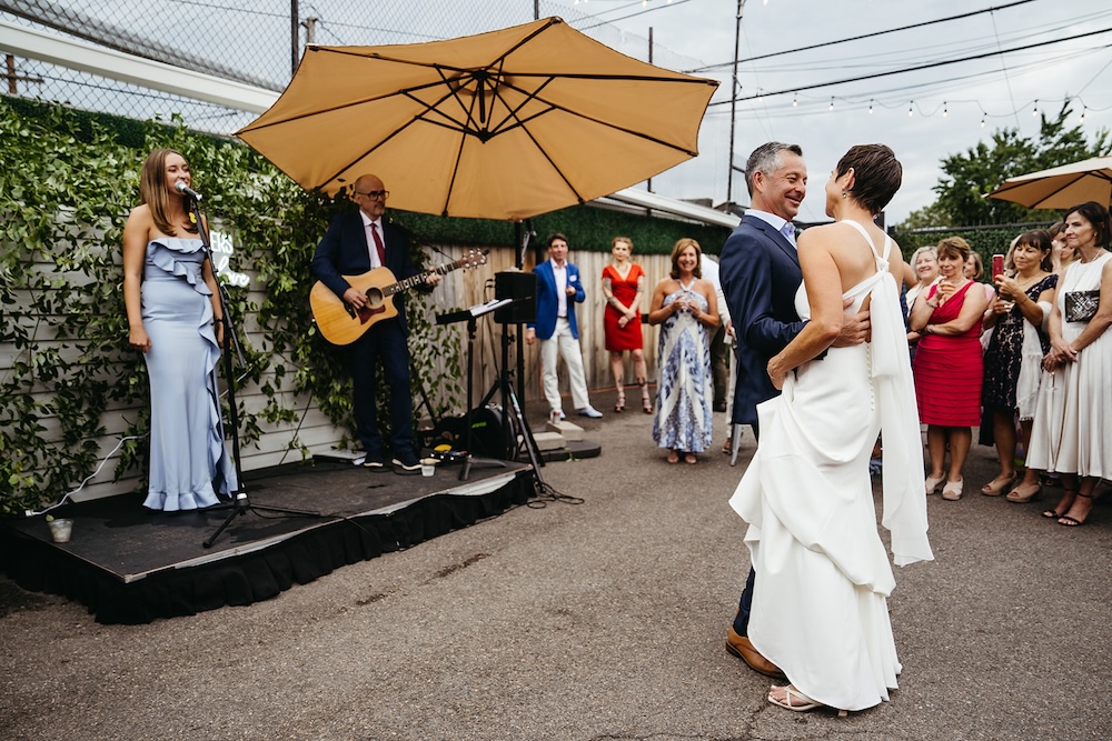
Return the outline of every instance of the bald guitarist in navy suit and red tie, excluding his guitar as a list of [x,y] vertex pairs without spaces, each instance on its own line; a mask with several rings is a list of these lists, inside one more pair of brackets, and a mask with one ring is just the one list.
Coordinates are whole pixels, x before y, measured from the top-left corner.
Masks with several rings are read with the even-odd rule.
[[[421,272],[409,258],[405,232],[383,219],[388,197],[386,186],[376,176],[360,176],[355,181],[353,194],[359,211],[337,214],[312,256],[312,274],[356,310],[361,309],[368,299],[344,279],[345,274],[358,276],[386,267],[397,280],[405,280]],[[438,273],[429,274],[425,290],[433,290],[440,278]],[[387,470],[386,450],[383,433],[378,429],[378,409],[375,404],[378,363],[381,362],[383,377],[390,392],[393,468],[395,473],[405,475],[419,473],[420,462],[414,448],[405,296],[395,296],[394,301],[398,316],[377,322],[363,337],[347,346],[347,350],[355,391],[353,402],[356,429],[367,452],[364,465],[374,471]]]

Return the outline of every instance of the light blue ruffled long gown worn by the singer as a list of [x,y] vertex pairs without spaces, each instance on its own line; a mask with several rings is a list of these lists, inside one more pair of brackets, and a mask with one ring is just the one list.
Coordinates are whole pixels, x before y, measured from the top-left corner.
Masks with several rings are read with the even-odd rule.
[[143,507],[210,507],[237,488],[224,442],[212,328],[212,296],[199,239],[163,237],[147,244],[142,322],[151,347],[150,474]]

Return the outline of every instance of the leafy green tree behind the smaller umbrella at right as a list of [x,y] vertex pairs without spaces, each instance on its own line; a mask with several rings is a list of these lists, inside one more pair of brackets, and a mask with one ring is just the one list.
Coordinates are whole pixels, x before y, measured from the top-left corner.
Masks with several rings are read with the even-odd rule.
[[1021,137],[1019,129],[999,129],[991,142],[981,141],[962,153],[943,158],[944,176],[934,186],[937,199],[913,212],[901,228],[1054,221],[1058,211],[1027,209],[987,194],[1009,178],[1112,151],[1108,130],[1101,129],[1088,141],[1080,126],[1068,126],[1071,114],[1066,101],[1054,118],[1040,114],[1036,137]]

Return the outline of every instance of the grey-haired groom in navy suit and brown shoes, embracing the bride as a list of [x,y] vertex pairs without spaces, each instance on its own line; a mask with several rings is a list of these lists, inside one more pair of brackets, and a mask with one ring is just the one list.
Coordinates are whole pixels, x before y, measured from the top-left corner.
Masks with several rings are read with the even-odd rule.
[[[749,424],[759,437],[757,404],[777,395],[766,367],[803,330],[795,294],[803,282],[795,251],[795,224],[807,194],[807,166],[798,144],[761,144],[745,163],[751,207],[726,240],[718,260],[722,290],[737,333],[737,383],[734,424]],[[847,316],[834,347],[864,342],[868,313]],[[754,671],[783,678],[748,639],[753,603],[753,569],[745,581],[734,624],[726,632],[726,650]]]

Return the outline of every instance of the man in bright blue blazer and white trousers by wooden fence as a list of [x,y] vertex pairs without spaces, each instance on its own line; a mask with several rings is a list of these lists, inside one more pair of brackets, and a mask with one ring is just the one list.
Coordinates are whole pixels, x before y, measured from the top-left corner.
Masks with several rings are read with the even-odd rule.
[[579,351],[579,328],[575,322],[575,304],[587,298],[583,290],[579,269],[567,261],[567,238],[553,234],[548,238],[548,259],[533,269],[537,276],[537,320],[528,326],[525,343],[540,339],[540,366],[544,372],[545,399],[553,414],[564,419],[559,398],[559,377],[556,375],[557,354],[567,364],[572,382],[572,401],[583,417],[602,417],[587,398],[587,381],[583,373],[583,353]]

